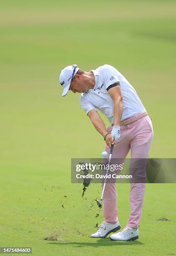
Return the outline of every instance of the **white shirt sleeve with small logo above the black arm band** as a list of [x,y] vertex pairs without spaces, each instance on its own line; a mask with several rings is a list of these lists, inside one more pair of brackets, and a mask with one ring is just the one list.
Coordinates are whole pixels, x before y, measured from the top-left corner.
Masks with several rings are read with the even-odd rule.
[[111,84],[114,84],[116,82],[120,82],[120,79],[118,78],[118,72],[115,67],[112,67],[110,65],[104,65],[102,67],[102,76],[105,81],[105,88],[107,89]]

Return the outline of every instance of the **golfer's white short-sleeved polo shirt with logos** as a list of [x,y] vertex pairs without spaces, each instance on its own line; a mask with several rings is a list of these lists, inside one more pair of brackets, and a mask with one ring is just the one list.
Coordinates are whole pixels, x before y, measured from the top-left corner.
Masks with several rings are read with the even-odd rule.
[[96,111],[99,109],[108,118],[110,124],[114,123],[114,102],[107,88],[115,82],[120,82],[120,89],[123,96],[121,120],[146,111],[133,86],[117,69],[105,64],[96,70],[92,70],[92,72],[95,76],[94,89],[82,93],[80,97],[80,104],[87,114],[91,109]]

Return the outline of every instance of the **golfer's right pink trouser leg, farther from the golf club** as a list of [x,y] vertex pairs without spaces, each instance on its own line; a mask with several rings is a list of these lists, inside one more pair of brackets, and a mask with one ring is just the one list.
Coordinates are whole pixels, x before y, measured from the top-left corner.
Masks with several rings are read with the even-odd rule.
[[[153,128],[151,120],[145,116],[138,121],[128,125],[130,128],[130,148],[131,161],[135,158],[148,158],[150,144],[153,138]],[[146,165],[142,164],[140,170],[141,179],[145,178]],[[142,215],[143,199],[145,193],[145,183],[131,183],[130,189],[130,218],[128,219],[128,227],[138,228]]]

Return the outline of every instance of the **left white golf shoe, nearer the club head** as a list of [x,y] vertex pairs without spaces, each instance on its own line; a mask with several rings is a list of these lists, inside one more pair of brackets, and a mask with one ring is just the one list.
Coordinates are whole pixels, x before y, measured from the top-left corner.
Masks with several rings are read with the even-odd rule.
[[117,221],[115,224],[110,224],[105,221],[100,225],[98,231],[92,234],[90,237],[93,238],[106,238],[112,232],[116,232],[120,229],[120,223]]

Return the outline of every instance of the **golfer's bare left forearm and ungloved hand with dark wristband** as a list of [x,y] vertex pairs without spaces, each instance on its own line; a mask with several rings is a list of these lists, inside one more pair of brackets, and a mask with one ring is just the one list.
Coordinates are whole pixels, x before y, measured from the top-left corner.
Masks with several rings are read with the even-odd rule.
[[[95,129],[104,137],[105,134],[107,134],[106,126],[102,118],[97,113],[97,111],[92,109],[89,111],[87,115],[92,121],[92,124],[94,125]],[[112,136],[110,134],[106,136],[106,143],[109,147],[111,147],[111,144],[113,143],[113,141],[112,141]]]

